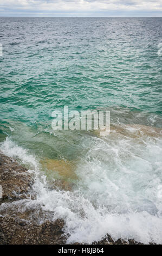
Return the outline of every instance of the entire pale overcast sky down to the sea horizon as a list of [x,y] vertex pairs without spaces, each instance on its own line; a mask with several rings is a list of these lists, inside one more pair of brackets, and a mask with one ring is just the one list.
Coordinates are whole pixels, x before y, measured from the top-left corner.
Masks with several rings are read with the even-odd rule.
[[162,17],[162,0],[0,0],[0,16]]

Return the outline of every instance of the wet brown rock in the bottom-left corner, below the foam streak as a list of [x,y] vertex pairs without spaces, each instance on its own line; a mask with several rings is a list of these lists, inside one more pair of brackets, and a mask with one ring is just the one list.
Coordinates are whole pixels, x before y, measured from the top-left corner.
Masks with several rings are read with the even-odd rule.
[[7,215],[0,217],[0,244],[10,245],[56,245],[64,244],[64,221],[44,222],[39,225],[35,222],[20,221]]

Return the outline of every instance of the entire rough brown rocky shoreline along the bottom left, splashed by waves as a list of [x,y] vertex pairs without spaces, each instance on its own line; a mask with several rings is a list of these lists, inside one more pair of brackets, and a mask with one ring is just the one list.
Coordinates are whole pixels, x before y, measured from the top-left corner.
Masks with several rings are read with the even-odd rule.
[[[3,187],[3,197],[0,198],[1,245],[63,245],[66,243],[63,220],[57,219],[55,222],[44,220],[43,223],[39,224],[37,219],[41,215],[41,210],[26,209],[22,213],[14,210],[18,200],[31,198],[33,182],[33,177],[27,168],[18,164],[11,157],[0,153],[0,185]],[[5,207],[3,207],[4,205]],[[75,244],[79,244],[79,242]],[[111,236],[107,235],[106,238],[99,242],[93,242],[93,244],[128,245],[137,244],[137,242],[121,239],[113,241]]]

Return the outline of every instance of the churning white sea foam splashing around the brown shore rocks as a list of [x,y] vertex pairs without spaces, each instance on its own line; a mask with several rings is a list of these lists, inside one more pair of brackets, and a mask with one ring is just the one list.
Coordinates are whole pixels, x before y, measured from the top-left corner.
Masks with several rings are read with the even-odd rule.
[[[42,205],[53,220],[63,218],[68,243],[92,243],[107,233],[114,240],[121,237],[161,243],[161,139],[88,137],[83,139],[82,146],[88,143],[90,148],[76,169],[79,179],[75,191],[51,191],[46,176],[36,175],[37,199],[25,200],[24,204]],[[9,138],[1,144],[1,150],[31,164],[34,172],[38,172],[35,157]],[[17,204],[22,204],[22,200]]]

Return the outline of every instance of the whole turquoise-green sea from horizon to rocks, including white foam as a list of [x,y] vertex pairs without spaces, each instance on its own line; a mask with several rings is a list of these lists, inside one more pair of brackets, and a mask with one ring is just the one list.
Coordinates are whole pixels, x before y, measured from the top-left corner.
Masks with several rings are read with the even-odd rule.
[[[34,207],[40,222],[61,217],[67,243],[107,233],[161,243],[162,18],[0,22],[0,148],[35,175],[36,194],[0,213]],[[51,113],[64,106],[110,110],[110,135],[54,132]]]

